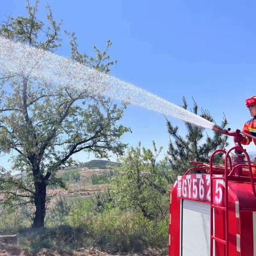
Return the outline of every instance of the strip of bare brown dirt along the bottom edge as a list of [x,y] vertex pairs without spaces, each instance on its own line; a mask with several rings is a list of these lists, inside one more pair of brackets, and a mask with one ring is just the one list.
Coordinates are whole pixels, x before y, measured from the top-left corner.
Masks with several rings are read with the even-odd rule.
[[[139,256],[139,254],[125,254],[116,253],[109,254],[106,252],[101,252],[95,249],[86,250],[79,249],[76,251],[56,251],[51,249],[42,249],[38,253],[31,253],[26,250],[21,250],[18,245],[6,245],[0,244],[0,256]],[[147,252],[140,254],[140,256],[165,256],[165,253],[157,252],[152,249],[148,249]]]

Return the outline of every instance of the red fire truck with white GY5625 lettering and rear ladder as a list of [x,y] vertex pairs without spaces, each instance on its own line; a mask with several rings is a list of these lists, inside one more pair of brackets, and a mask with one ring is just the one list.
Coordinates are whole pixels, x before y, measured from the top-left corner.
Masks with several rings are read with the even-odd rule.
[[[217,154],[223,165],[214,163]],[[236,143],[209,163],[190,164],[170,191],[169,256],[255,256],[256,165],[246,150]]]

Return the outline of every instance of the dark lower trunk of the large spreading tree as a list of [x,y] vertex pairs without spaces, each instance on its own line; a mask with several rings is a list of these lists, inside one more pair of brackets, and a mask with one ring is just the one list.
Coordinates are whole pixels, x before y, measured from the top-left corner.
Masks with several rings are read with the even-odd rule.
[[45,206],[46,206],[46,184],[45,182],[35,182],[35,218],[33,227],[44,227]]

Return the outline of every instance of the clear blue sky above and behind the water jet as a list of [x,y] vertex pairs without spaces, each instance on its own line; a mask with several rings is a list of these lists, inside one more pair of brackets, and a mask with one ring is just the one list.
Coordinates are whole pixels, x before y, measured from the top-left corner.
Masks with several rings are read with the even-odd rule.
[[[256,2],[41,0],[39,18],[45,19],[47,2],[55,19],[63,20],[63,30],[76,32],[81,51],[92,54],[93,45],[103,50],[111,39],[109,54],[118,61],[111,75],[177,105],[184,95],[192,106],[194,97],[219,124],[224,112],[233,130],[250,119],[244,101],[256,94]],[[1,20],[25,15],[25,5],[25,0],[2,1]],[[58,54],[69,57],[67,37]],[[170,119],[184,134],[183,123]],[[166,152],[169,137],[161,114],[129,106],[122,124],[133,131],[123,138],[130,146],[141,141],[151,147],[155,140]],[[92,158],[77,156],[82,162]],[[7,156],[1,159],[8,166]]]

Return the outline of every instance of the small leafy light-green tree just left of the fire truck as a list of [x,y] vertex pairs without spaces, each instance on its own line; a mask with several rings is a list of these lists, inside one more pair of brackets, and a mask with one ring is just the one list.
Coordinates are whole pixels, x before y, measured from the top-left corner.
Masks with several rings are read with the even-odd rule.
[[162,219],[168,211],[170,183],[166,162],[156,163],[162,151],[131,147],[113,178],[114,197],[121,209],[140,211],[148,219]]

